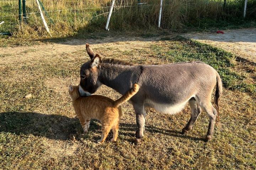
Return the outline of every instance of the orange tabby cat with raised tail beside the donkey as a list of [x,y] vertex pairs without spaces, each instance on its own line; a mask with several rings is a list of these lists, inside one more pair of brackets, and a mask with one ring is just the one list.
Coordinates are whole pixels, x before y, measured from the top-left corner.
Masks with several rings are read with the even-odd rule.
[[98,140],[98,143],[103,143],[112,129],[113,138],[111,142],[117,140],[117,134],[119,129],[119,120],[122,117],[121,104],[128,101],[139,90],[139,85],[134,84],[133,89],[128,91],[125,95],[116,101],[111,98],[92,95],[87,97],[81,97],[79,94],[79,86],[69,86],[69,94],[73,101],[75,113],[80,120],[80,124],[84,132],[88,132],[91,119],[98,119],[101,122],[102,136]]

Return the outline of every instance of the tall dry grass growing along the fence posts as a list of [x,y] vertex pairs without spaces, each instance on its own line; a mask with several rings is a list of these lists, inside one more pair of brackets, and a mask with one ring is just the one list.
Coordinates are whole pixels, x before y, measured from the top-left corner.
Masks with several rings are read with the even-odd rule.
[[[159,0],[117,0],[111,16],[111,30],[136,31],[155,29],[158,25]],[[111,0],[42,0],[47,12],[46,20],[55,36],[74,35],[81,32],[103,30]],[[247,18],[256,18],[256,1],[249,0]],[[207,19],[226,21],[241,19],[244,0],[164,0],[161,28],[181,30],[186,26],[197,26]],[[89,8],[89,9],[88,9]],[[59,11],[60,10],[60,11]],[[28,24],[18,34],[47,36],[35,1],[27,0]]]

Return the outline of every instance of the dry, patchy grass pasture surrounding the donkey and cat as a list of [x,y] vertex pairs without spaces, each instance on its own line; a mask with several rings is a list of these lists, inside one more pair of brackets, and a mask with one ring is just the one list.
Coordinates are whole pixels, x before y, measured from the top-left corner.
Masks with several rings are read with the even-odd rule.
[[[176,115],[147,109],[142,145],[135,145],[135,113],[123,104],[116,143],[102,145],[101,126],[82,134],[68,85],[79,83],[89,60],[85,44],[101,57],[134,64],[203,61],[223,79],[220,121],[204,142],[208,117],[202,112],[187,136],[188,105]],[[256,67],[236,54],[172,34],[154,37],[97,36],[34,42],[0,48],[0,169],[256,169]],[[171,73],[170,73],[171,74]],[[32,94],[32,98],[23,98]],[[119,98],[102,86],[96,94]]]

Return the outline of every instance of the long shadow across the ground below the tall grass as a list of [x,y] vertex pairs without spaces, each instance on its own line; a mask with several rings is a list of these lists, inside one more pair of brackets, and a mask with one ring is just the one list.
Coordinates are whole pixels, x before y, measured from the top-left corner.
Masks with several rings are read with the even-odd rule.
[[145,33],[123,33],[123,32],[94,32],[84,33],[81,32],[75,36],[66,36],[62,38],[46,38],[37,39],[42,42],[60,43],[63,45],[79,46],[89,44],[101,44],[101,43],[114,43],[122,41],[158,41],[162,38],[172,39],[177,35],[185,36],[196,40],[213,40],[218,42],[256,42],[256,29],[240,29],[229,30],[224,34],[217,34],[216,32],[199,32],[199,33],[173,33],[169,30],[162,30],[160,32],[145,32]]

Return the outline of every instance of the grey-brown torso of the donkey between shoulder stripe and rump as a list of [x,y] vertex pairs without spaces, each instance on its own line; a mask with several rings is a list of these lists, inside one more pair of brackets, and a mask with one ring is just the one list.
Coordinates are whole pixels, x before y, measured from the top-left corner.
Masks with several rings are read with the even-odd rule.
[[203,62],[145,65],[139,78],[141,95],[148,101],[176,105],[211,95],[217,76],[216,70]]

